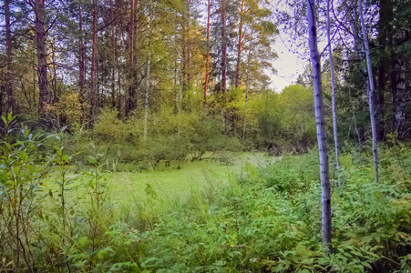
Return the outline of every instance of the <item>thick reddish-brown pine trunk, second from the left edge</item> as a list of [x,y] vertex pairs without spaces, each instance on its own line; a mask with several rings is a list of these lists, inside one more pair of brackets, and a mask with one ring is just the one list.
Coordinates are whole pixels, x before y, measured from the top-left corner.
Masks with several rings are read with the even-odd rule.
[[37,49],[37,76],[39,89],[40,112],[45,112],[49,103],[46,59],[46,30],[45,30],[45,0],[36,0],[36,49]]

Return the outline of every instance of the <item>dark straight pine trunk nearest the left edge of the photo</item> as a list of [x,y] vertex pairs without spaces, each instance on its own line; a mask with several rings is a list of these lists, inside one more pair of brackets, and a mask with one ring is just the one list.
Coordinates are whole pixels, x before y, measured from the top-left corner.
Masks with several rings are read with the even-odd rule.
[[12,35],[10,29],[10,0],[5,0],[5,54],[7,70],[5,72],[5,93],[7,94],[7,113],[15,110],[15,97],[13,96],[12,80]]

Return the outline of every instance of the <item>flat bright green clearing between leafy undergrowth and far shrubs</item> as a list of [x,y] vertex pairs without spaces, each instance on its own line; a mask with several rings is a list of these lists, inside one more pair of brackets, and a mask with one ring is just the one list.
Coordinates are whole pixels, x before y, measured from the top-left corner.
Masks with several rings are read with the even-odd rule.
[[[147,198],[147,187],[151,187],[160,197],[174,198],[187,197],[190,192],[207,187],[210,184],[227,185],[231,180],[241,175],[245,171],[246,164],[255,167],[263,167],[278,160],[281,157],[267,157],[264,153],[224,153],[224,162],[217,157],[205,155],[200,161],[173,161],[170,167],[166,167],[166,162],[159,162],[159,166],[153,170],[138,171],[137,167],[128,165],[128,171],[101,171],[101,178],[108,181],[109,197],[111,203],[127,206],[136,201],[136,198]],[[74,186],[77,187],[76,194],[82,195],[85,192],[85,184],[90,179],[86,172],[75,170],[72,167],[67,174],[67,179],[74,179]],[[47,179],[47,188],[57,190],[54,180],[57,175],[55,170]],[[68,197],[74,196],[74,191],[68,193]]]

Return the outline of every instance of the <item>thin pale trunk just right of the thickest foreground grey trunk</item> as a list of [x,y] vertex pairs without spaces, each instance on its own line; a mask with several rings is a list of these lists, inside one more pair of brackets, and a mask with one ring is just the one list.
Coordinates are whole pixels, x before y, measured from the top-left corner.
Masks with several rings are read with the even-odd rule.
[[328,41],[328,55],[330,56],[330,71],[331,71],[331,89],[333,92],[333,126],[334,126],[334,144],[335,144],[335,161],[337,172],[340,170],[340,149],[338,146],[338,131],[337,131],[337,110],[335,106],[335,84],[334,84],[334,63],[333,63],[333,49],[330,37],[330,1],[327,0],[327,41]]

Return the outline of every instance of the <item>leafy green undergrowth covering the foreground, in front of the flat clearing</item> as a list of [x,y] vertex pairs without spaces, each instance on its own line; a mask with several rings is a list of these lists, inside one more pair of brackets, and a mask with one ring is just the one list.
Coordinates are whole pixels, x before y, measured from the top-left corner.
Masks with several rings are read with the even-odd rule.
[[63,145],[41,150],[58,136],[13,133],[12,117],[4,121],[0,272],[411,270],[411,149],[402,144],[380,147],[379,184],[369,160],[341,158],[334,254],[326,256],[314,151],[248,164],[230,183],[210,180],[188,197],[163,197],[147,184],[144,197],[125,205],[111,201],[98,154],[86,157],[84,181],[73,183],[73,155]]

